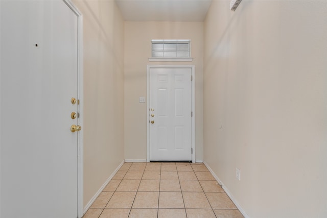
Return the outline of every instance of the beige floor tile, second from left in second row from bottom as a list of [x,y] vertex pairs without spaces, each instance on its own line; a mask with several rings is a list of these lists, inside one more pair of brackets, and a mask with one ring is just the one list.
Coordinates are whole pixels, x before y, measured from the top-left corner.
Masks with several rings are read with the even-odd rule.
[[131,208],[136,192],[114,192],[106,208]]

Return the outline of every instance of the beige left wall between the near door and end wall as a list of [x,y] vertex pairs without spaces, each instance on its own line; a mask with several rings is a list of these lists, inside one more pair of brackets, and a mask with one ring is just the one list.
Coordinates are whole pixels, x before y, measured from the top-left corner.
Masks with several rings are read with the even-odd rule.
[[84,207],[124,160],[124,21],[113,1],[74,1],[84,19]]

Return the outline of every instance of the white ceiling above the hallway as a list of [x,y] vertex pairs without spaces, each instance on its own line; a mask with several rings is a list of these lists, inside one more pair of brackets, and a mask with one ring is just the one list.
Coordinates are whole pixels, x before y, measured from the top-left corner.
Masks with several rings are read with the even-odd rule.
[[212,0],[115,0],[126,21],[204,21]]

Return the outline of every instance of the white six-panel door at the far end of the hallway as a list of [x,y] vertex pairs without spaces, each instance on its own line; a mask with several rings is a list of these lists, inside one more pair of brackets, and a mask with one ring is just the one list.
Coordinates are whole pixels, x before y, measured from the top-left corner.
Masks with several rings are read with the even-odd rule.
[[150,68],[150,161],[192,160],[192,68]]

